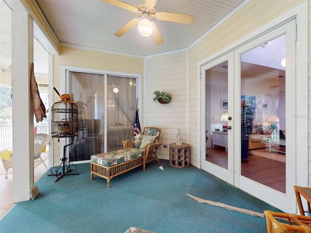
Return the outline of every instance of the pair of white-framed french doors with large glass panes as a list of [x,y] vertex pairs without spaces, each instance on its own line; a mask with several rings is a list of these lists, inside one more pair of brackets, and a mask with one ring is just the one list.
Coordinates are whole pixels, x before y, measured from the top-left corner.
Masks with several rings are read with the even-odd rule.
[[295,20],[211,59],[201,73],[202,169],[295,213]]

